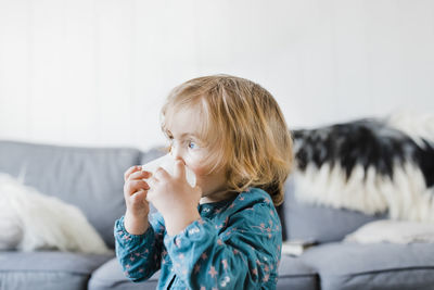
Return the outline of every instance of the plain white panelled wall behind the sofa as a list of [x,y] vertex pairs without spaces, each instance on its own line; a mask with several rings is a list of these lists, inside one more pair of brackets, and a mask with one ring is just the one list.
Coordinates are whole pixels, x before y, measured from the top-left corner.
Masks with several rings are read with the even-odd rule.
[[434,1],[0,0],[0,139],[146,149],[167,92],[216,73],[292,128],[434,112]]

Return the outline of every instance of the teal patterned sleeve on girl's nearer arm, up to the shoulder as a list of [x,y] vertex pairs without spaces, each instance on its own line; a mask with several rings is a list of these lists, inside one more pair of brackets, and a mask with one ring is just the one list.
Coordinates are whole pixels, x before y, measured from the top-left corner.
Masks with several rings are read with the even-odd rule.
[[282,234],[272,205],[255,204],[221,224],[201,218],[164,243],[191,289],[276,288]]

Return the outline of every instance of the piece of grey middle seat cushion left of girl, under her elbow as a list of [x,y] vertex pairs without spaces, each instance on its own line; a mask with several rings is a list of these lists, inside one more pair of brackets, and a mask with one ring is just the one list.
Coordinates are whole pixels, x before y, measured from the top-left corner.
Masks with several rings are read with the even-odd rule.
[[112,259],[93,272],[89,281],[89,290],[154,290],[158,283],[159,272],[143,282],[132,282],[125,277],[116,259]]

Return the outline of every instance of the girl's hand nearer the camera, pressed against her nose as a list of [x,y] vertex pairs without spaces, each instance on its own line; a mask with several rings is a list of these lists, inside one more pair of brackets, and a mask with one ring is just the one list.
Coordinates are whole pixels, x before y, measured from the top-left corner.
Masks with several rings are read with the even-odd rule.
[[182,161],[176,161],[174,176],[158,168],[148,182],[151,189],[146,199],[163,215],[169,235],[178,234],[201,217],[197,204],[202,190],[188,184]]

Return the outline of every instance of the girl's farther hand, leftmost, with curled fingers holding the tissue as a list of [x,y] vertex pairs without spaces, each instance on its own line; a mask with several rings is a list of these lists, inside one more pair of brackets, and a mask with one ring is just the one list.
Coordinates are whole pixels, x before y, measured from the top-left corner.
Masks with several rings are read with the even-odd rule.
[[129,234],[141,235],[148,229],[150,212],[146,194],[149,185],[143,178],[151,177],[150,172],[142,172],[141,166],[132,166],[125,172],[124,198],[127,205],[124,226]]

